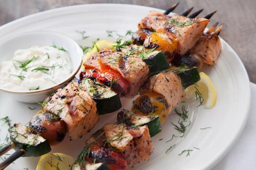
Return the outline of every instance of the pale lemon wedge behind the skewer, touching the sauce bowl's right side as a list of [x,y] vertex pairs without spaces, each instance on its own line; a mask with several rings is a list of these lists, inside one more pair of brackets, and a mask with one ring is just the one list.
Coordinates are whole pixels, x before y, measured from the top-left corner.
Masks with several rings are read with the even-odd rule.
[[[91,56],[93,56],[93,54],[97,53],[99,50],[102,50],[103,48],[109,48],[109,49],[113,49],[114,50],[114,47],[113,45],[115,45],[116,43],[110,43],[109,41],[107,40],[100,40],[98,41],[97,43],[94,44],[93,48],[87,52],[85,55],[84,55],[84,58],[83,58],[83,63],[88,59],[90,58]],[[84,70],[84,66],[82,66],[82,70]]]

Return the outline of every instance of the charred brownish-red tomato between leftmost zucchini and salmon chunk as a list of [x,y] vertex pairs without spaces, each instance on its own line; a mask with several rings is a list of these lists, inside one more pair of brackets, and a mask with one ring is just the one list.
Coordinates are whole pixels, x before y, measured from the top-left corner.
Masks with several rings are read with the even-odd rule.
[[59,116],[44,111],[39,111],[32,117],[29,127],[50,145],[60,143],[67,133],[66,123]]

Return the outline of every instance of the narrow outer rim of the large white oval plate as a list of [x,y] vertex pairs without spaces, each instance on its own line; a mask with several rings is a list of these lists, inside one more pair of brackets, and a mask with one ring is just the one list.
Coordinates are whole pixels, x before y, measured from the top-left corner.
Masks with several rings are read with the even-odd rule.
[[[81,5],[70,5],[70,6],[65,6],[65,7],[58,7],[58,8],[53,8],[50,10],[46,10],[46,11],[42,11],[42,12],[38,12],[35,14],[31,14],[31,15],[27,15],[27,16],[23,16],[22,18],[19,18],[17,20],[13,20],[9,23],[6,23],[4,25],[0,26],[0,31],[2,31],[3,29],[5,29],[6,27],[10,27],[13,24],[17,24],[20,23],[22,21],[26,21],[29,19],[33,19],[33,18],[37,18],[38,16],[41,15],[50,15],[51,13],[54,13],[56,11],[65,11],[65,10],[70,10],[71,8],[77,8],[77,7],[83,7],[83,6],[137,6],[137,7],[141,7],[141,8],[147,8],[149,10],[158,10],[158,11],[164,11],[162,9],[159,8],[155,8],[155,7],[149,7],[149,6],[142,6],[142,5],[133,5],[133,4],[116,4],[116,3],[97,3],[97,4],[81,4]],[[72,12],[69,12],[69,14]],[[46,16],[44,16],[46,18]],[[49,16],[48,16],[49,17]],[[240,128],[237,130],[237,132],[235,133],[233,139],[229,140],[227,142],[227,147],[223,148],[220,152],[219,155],[217,155],[216,158],[212,159],[212,162],[209,162],[207,164],[207,166],[204,169],[210,169],[212,167],[214,167],[218,162],[220,162],[220,160],[225,157],[228,152],[230,151],[230,149],[235,145],[235,143],[237,142],[237,140],[239,139],[240,135],[242,134],[245,125],[247,123],[247,119],[249,117],[249,111],[250,111],[250,106],[251,106],[251,87],[250,87],[250,79],[249,76],[247,74],[247,71],[245,69],[244,64],[242,63],[241,59],[239,58],[239,56],[237,55],[237,53],[235,52],[235,50],[225,41],[221,38],[222,41],[224,41],[231,49],[231,52],[235,54],[235,58],[237,59],[239,66],[241,66],[241,69],[243,70],[243,74],[244,74],[244,79],[246,80],[246,82],[244,82],[244,86],[246,85],[246,87],[244,87],[246,89],[246,92],[244,93],[245,96],[247,96],[245,99],[247,99],[246,103],[247,105],[244,106],[244,120],[240,126]]]

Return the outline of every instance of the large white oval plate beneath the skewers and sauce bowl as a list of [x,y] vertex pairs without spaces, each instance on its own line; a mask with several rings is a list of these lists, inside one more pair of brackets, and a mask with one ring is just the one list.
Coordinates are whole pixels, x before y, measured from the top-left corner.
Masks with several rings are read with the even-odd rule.
[[[0,28],[0,40],[16,33],[50,30],[65,33],[78,43],[86,41],[85,44],[91,45],[92,41],[97,38],[106,39],[106,30],[118,30],[121,35],[124,35],[126,30],[137,30],[138,21],[153,9],[121,4],[92,4],[58,8],[3,25]],[[82,41],[81,35],[75,30],[85,30],[90,38]],[[171,122],[178,122],[178,116],[171,115],[163,125],[163,131],[152,138],[155,149],[150,160],[134,169],[210,169],[234,145],[246,124],[250,106],[250,84],[245,68],[234,50],[222,40],[222,53],[217,64],[205,68],[204,71],[210,75],[218,93],[215,107],[204,109],[195,107],[195,104],[188,104],[191,124],[185,137],[177,137],[165,143],[172,138],[173,134],[180,135],[171,124]],[[35,111],[41,108],[36,106],[34,111],[30,111],[28,106],[36,105],[19,103],[3,93],[0,94],[0,117],[8,115],[12,122],[26,123]],[[131,100],[123,102],[123,106],[130,109]],[[100,122],[92,132],[101,128],[103,124],[115,122],[115,120],[115,114],[101,116]],[[211,128],[201,130],[209,126]],[[6,135],[6,125],[1,126],[0,133],[1,143]],[[76,157],[84,147],[88,136],[89,134],[80,140],[71,142],[65,140],[60,145],[52,147],[52,151]],[[159,141],[162,138],[163,140]],[[176,143],[175,147],[170,154],[166,155],[165,151],[174,143]],[[178,154],[184,149],[193,149],[193,151],[188,157],[186,153],[179,156]],[[20,158],[6,169],[26,169],[26,167],[35,169],[37,160],[38,158]]]

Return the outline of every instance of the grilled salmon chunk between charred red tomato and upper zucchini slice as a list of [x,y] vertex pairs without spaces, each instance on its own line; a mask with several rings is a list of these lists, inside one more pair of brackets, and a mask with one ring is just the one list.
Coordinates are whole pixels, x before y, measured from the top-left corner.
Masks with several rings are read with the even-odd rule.
[[120,73],[129,82],[130,91],[126,97],[137,95],[141,85],[148,78],[148,65],[136,55],[125,55],[125,53],[116,52],[102,57],[100,62],[105,67]]

